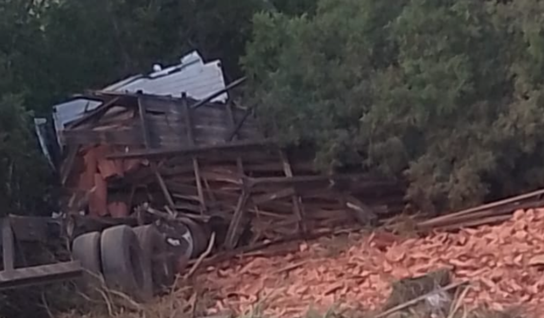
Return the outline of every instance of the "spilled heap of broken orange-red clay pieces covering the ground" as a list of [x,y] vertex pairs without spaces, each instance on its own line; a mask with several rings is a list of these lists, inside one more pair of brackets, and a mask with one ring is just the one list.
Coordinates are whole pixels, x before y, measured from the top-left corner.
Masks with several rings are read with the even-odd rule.
[[276,317],[339,304],[373,310],[386,301],[394,280],[446,266],[455,281],[471,282],[468,306],[541,307],[537,316],[544,317],[544,209],[517,211],[501,225],[458,233],[401,238],[375,232],[339,241],[301,243],[298,252],[285,256],[245,257],[208,268],[198,279],[217,295],[209,311],[240,313],[259,300]]

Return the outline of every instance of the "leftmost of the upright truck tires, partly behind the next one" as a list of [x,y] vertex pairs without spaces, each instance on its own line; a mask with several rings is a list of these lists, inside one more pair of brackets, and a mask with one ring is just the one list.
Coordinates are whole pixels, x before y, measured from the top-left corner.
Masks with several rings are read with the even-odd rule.
[[72,242],[72,258],[79,260],[84,269],[80,287],[89,296],[102,283],[102,261],[100,257],[100,232],[90,232],[76,237]]

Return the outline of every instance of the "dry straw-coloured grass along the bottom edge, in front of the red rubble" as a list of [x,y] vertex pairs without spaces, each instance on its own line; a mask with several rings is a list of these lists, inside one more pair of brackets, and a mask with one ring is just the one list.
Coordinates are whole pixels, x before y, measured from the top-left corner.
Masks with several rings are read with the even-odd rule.
[[[451,286],[451,284],[450,284]],[[426,294],[398,304],[398,309],[389,308],[380,312],[349,312],[342,310],[341,304],[322,313],[308,308],[304,317],[293,318],[533,318],[523,314],[520,309],[507,311],[493,311],[489,309],[467,309],[463,306],[463,297],[469,287],[459,288],[448,302],[442,303],[440,309],[432,307],[426,301]],[[156,301],[141,305],[128,301],[126,295],[112,290],[102,291],[102,301],[91,300],[87,296],[84,300],[91,304],[85,308],[78,308],[69,313],[59,315],[59,318],[198,318],[205,317],[206,309],[213,305],[212,295],[199,292],[194,287],[186,285],[184,288],[172,290],[170,294],[159,297]],[[429,294],[433,294],[432,292]],[[232,315],[222,313],[213,315],[213,318],[276,318],[265,314],[267,298],[250,306],[245,313]],[[436,305],[436,304],[435,304]],[[83,310],[83,311],[82,311]],[[386,312],[388,311],[388,312]]]

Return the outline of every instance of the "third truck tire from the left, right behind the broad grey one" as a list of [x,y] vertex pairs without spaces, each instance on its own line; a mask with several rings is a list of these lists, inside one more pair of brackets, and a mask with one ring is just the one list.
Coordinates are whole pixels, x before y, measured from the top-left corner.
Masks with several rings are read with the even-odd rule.
[[146,279],[146,284],[151,285],[155,292],[171,287],[175,281],[174,263],[169,257],[163,234],[152,224],[134,227],[134,233],[145,259],[150,262],[151,277]]

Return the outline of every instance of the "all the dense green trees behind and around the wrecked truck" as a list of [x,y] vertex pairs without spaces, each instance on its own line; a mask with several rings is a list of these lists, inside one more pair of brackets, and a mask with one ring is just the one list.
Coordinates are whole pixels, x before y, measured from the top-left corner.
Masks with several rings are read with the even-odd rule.
[[265,126],[313,144],[325,170],[405,177],[425,209],[542,186],[543,13],[534,0],[0,0],[0,203],[47,197],[29,111],[191,49],[249,75]]

